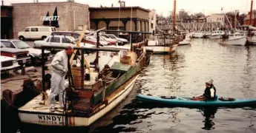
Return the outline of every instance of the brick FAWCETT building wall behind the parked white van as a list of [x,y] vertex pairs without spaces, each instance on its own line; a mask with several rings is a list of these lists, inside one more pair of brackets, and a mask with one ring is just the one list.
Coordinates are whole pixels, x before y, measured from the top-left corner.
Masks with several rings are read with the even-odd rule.
[[57,7],[59,16],[59,31],[72,31],[82,29],[84,24],[89,25],[88,4],[79,4],[72,1],[20,3],[13,6],[13,37],[18,38],[18,33],[29,26],[43,26],[42,16],[53,16]]

